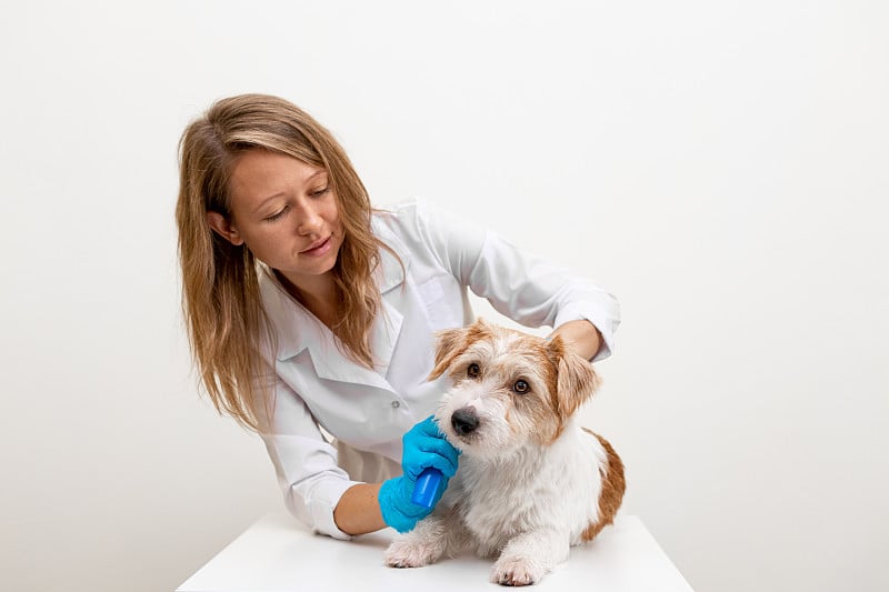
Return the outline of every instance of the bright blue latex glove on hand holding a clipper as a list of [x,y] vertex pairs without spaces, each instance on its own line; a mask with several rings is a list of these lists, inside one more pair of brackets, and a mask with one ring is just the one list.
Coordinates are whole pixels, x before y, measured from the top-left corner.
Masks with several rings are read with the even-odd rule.
[[[417,522],[432,512],[448,488],[448,480],[457,472],[459,451],[444,439],[432,417],[410,429],[401,439],[401,470],[403,474],[384,481],[378,500],[383,521],[398,532],[408,532]],[[411,501],[417,478],[423,469],[433,466],[441,471],[442,480],[432,508],[424,508]]]

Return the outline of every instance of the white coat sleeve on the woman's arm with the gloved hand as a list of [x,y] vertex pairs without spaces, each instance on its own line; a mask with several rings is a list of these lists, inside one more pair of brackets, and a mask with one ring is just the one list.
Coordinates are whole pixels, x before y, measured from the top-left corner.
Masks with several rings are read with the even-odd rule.
[[337,465],[337,451],[324,440],[306,403],[278,380],[271,429],[261,433],[287,509],[300,522],[334,539],[351,536],[337,528],[333,509],[357,484]]

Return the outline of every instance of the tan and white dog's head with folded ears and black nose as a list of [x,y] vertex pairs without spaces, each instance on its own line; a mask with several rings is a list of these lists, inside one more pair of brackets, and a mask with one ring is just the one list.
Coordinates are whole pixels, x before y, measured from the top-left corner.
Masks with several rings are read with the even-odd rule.
[[436,419],[455,446],[478,456],[549,444],[599,383],[559,337],[547,341],[482,320],[438,334],[429,380],[444,373],[453,385]]

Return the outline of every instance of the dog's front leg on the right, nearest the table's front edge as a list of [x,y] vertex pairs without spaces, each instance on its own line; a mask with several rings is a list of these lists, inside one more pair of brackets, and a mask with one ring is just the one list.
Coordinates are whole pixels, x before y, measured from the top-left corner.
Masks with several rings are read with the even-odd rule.
[[507,543],[491,569],[491,582],[528,585],[539,582],[557,563],[568,559],[569,538],[563,532],[531,531]]

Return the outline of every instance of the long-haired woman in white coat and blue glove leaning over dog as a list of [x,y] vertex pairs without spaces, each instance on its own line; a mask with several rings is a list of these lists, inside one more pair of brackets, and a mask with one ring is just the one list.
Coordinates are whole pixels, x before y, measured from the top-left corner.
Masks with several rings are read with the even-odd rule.
[[593,361],[619,323],[611,295],[465,220],[373,210],[330,132],[276,97],[186,129],[177,223],[203,385],[260,433],[291,513],[334,538],[410,530],[431,511],[410,502],[419,473],[457,470],[429,418],[447,384],[426,378],[434,332],[471,321],[467,288]]

